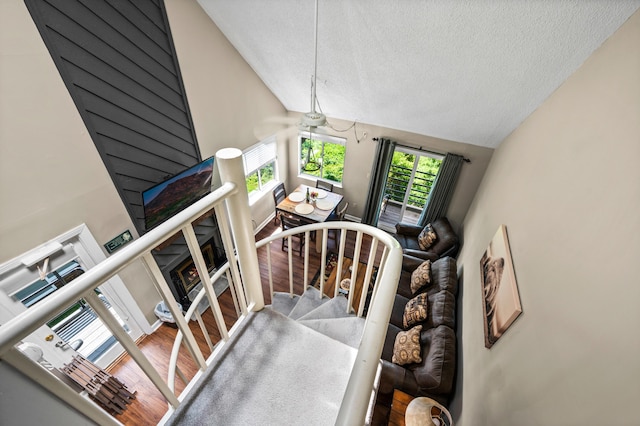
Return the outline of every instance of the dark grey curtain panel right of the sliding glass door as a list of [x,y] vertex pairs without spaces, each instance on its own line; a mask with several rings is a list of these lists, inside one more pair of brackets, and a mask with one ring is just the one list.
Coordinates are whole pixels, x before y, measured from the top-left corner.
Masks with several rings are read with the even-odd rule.
[[433,183],[433,188],[429,193],[424,209],[422,209],[418,225],[426,226],[437,218],[446,215],[463,161],[464,157],[457,154],[449,153],[444,157]]

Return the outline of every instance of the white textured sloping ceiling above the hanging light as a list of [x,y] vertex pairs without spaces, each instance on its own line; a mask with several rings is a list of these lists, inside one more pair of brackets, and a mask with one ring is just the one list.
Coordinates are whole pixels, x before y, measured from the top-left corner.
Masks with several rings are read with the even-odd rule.
[[[313,0],[199,0],[289,111],[310,110]],[[496,147],[640,0],[319,0],[332,117]]]

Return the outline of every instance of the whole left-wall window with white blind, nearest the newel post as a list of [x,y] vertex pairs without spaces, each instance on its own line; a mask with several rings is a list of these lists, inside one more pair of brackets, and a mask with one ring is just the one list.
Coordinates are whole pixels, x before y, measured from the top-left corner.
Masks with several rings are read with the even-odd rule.
[[276,137],[271,136],[242,154],[249,198],[269,191],[278,179]]

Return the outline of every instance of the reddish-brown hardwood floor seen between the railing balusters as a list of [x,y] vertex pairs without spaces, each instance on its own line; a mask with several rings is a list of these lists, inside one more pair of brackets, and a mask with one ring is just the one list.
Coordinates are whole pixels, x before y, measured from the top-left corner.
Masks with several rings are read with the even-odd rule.
[[[256,241],[259,241],[266,236],[271,235],[274,232],[279,232],[279,227],[271,222],[264,229],[262,229],[256,235]],[[346,255],[353,257],[355,246],[355,232],[348,232]],[[320,238],[320,235],[318,235]],[[281,241],[277,240],[272,243],[271,247],[271,265],[273,273],[273,287],[274,291],[288,291],[289,290],[289,272],[288,272],[288,253],[281,250]],[[294,270],[294,291],[297,294],[302,292],[303,287],[303,257],[297,254],[297,240],[293,239],[293,270]],[[368,238],[363,239],[363,246],[360,253],[360,261],[367,262],[369,255],[370,240]],[[309,282],[312,277],[320,268],[320,254],[315,251],[315,244],[311,242],[309,247]],[[337,251],[336,243],[329,240],[328,249],[334,249]],[[267,248],[262,247],[258,250],[258,261],[260,263],[260,276],[262,280],[262,288],[265,296],[265,303],[271,303],[271,295],[269,291],[269,280],[267,270]],[[380,258],[382,248],[378,248],[377,259]],[[223,311],[225,322],[230,327],[236,320],[237,315],[233,305],[233,300],[229,290],[225,291],[218,298],[220,307]],[[215,321],[210,310],[207,310],[203,315],[203,320],[207,325],[207,328],[211,334],[211,340],[215,344],[220,340],[220,336],[215,326]],[[202,335],[197,322],[192,321],[190,327],[198,341],[200,348],[202,349],[205,357],[210,354],[207,347],[204,336]],[[166,379],[169,354],[171,352],[171,346],[177,328],[173,328],[169,325],[163,324],[155,333],[146,336],[139,342],[139,347],[142,352],[149,357],[153,365],[156,367],[160,375]],[[197,367],[194,361],[191,359],[188,351],[182,347],[180,350],[180,356],[178,366],[184,375],[191,379],[197,372]],[[130,391],[136,391],[136,400],[129,405],[128,409],[116,418],[125,425],[155,425],[162,418],[167,411],[167,403],[162,397],[160,392],[153,386],[151,381],[146,377],[138,365],[128,356],[125,355],[122,359],[114,363],[109,372],[116,376],[119,380],[125,383]],[[183,383],[180,379],[176,379],[176,391],[179,394],[184,389]]]

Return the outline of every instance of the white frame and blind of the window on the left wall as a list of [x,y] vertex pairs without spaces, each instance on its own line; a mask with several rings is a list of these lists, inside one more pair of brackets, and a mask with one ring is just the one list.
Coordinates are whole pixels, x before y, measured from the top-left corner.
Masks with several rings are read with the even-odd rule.
[[[253,174],[257,175],[258,189],[249,192],[249,188],[247,188],[249,205],[252,205],[263,195],[271,192],[278,182],[280,182],[276,136],[273,135],[265,138],[242,151],[242,164],[244,167],[245,183],[249,179],[249,176]],[[262,171],[271,165],[273,166],[273,179],[263,183]]]

